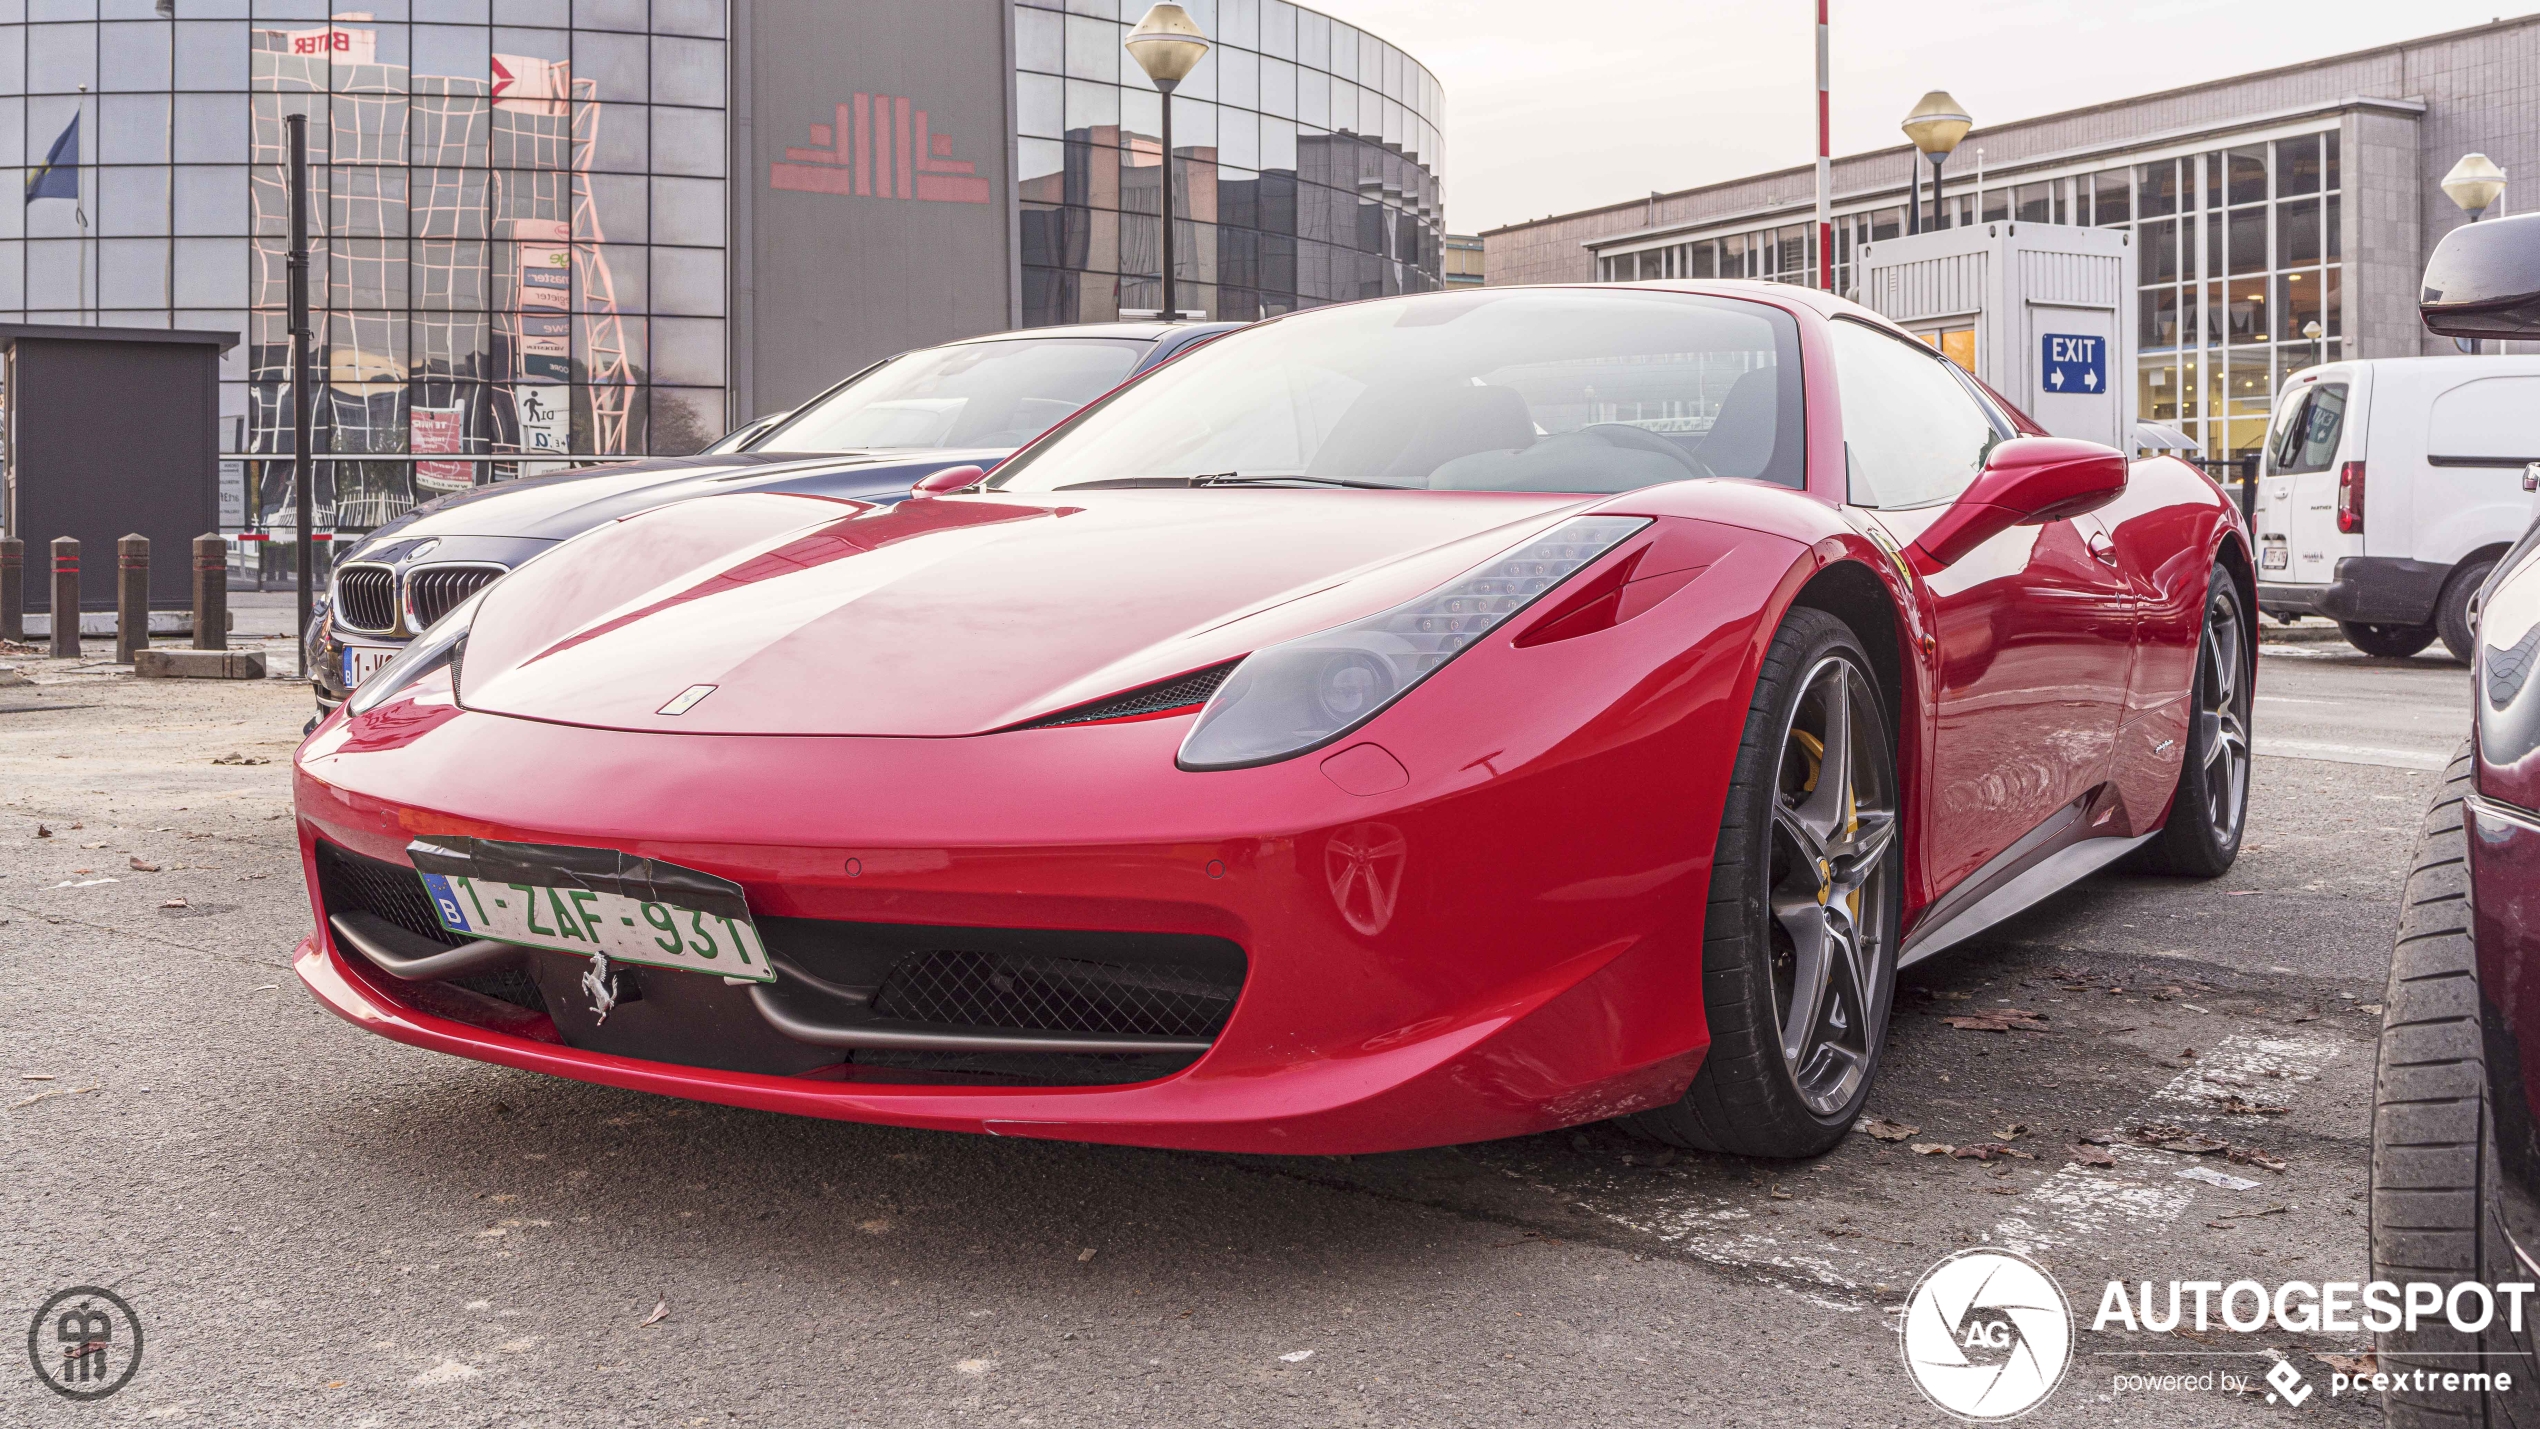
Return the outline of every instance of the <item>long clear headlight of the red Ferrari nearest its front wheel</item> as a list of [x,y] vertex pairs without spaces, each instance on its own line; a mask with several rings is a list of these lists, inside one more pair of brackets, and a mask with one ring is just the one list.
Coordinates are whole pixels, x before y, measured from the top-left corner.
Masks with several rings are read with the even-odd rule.
[[1176,764],[1242,769],[1341,739],[1643,525],[1582,515],[1420,599],[1255,650],[1199,711]]

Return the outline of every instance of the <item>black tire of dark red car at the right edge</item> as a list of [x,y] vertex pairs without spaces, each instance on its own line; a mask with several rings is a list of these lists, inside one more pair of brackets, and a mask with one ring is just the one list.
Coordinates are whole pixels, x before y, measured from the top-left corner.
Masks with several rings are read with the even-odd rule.
[[[2479,957],[2469,924],[2469,848],[2461,800],[2469,749],[2443,774],[2408,860],[2390,985],[2383,995],[2380,1064],[2372,1074],[2372,1279],[2395,1284],[2497,1284],[2527,1279],[2497,1216],[2497,1135],[2487,1104],[2487,1038],[2479,1031]],[[2499,1368],[2504,1393],[2393,1391],[2395,1429],[2540,1424],[2532,1327],[2461,1333],[2441,1317],[2377,1338],[2390,1371]]]

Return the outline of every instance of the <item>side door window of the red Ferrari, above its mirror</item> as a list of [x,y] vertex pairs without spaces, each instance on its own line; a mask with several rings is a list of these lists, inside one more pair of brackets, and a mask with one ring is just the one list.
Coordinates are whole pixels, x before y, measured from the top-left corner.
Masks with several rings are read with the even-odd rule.
[[1852,505],[1933,505],[1963,492],[2002,437],[1966,383],[1935,353],[1864,322],[1829,330]]

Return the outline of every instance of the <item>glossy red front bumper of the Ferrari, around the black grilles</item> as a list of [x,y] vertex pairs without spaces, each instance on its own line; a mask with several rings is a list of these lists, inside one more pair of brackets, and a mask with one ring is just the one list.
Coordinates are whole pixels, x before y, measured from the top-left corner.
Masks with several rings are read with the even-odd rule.
[[[1557,703],[1557,688],[1527,698]],[[1702,703],[1671,734],[1732,739],[1707,728],[1725,718],[1712,706],[1730,701]],[[742,883],[762,919],[1237,942],[1247,977],[1224,1031],[1156,1081],[940,1084],[851,1058],[770,1076],[566,1046],[554,1028],[437,1015],[343,947],[325,909],[297,972],[356,1025],[480,1061],[772,1112],[1087,1142],[1405,1150],[1648,1109],[1692,1081],[1707,1046],[1709,878],[1709,838],[1694,830],[1717,827],[1722,761],[1687,754],[1654,777],[1648,749],[1623,746],[1516,756],[1494,777],[1483,759],[1509,764],[1506,736],[1460,751],[1460,736],[1402,728],[1387,739],[1412,784],[1356,797],[1316,756],[1184,774],[1173,749],[1189,723],[696,739],[465,713],[427,693],[330,721],[297,769],[312,888],[318,840],[404,863],[414,838],[467,833],[701,868]],[[1544,827],[1557,810],[1582,817]]]

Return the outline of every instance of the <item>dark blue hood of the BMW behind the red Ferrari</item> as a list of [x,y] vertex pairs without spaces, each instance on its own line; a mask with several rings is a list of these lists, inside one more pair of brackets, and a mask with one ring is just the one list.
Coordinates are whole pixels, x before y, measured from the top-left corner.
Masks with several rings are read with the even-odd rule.
[[617,467],[556,472],[488,487],[467,487],[424,503],[363,538],[348,561],[394,558],[391,543],[427,536],[526,536],[564,541],[605,520],[673,500],[732,490],[818,490],[826,495],[907,492],[909,482],[965,462],[993,467],[1013,452],[836,452],[719,457],[653,457]]

